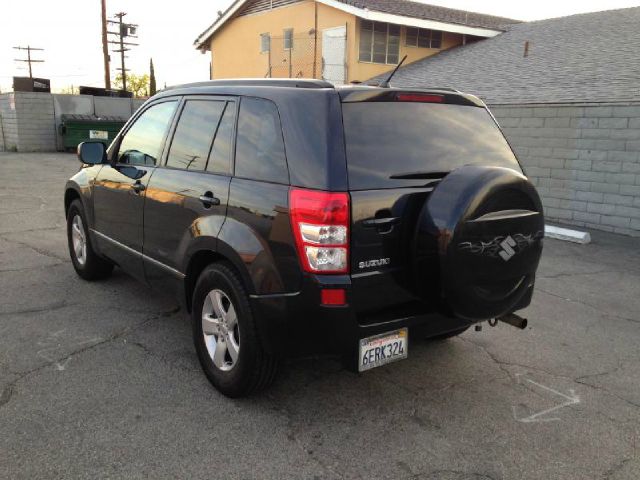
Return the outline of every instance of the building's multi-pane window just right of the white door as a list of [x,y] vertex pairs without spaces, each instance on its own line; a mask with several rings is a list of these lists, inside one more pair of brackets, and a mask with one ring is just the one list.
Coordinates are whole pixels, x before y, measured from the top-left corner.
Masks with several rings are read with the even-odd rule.
[[366,20],[360,22],[361,62],[396,64],[399,57],[399,25]]

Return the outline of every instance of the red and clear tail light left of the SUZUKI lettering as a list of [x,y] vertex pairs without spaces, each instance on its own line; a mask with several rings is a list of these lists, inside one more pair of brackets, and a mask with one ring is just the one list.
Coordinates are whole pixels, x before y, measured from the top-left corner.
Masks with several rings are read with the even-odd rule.
[[306,272],[349,272],[349,194],[293,189],[291,225]]

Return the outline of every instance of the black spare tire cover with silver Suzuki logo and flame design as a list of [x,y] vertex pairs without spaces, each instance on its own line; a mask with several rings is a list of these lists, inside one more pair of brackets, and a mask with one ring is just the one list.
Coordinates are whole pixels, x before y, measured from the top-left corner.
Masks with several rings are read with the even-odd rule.
[[524,175],[461,167],[434,189],[418,218],[417,288],[465,319],[509,313],[533,287],[543,236],[540,197]]

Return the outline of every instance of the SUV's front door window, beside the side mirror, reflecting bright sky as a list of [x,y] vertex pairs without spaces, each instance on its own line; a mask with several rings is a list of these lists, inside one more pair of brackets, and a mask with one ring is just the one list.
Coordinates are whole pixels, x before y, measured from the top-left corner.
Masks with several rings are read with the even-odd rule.
[[162,154],[177,101],[149,107],[124,134],[118,148],[118,163],[154,166]]

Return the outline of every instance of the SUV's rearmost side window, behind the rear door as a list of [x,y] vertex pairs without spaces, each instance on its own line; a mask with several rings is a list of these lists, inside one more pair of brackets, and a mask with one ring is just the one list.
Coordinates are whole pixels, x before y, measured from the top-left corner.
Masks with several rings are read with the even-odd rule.
[[240,103],[235,174],[268,182],[288,181],[280,117],[269,100],[243,98]]

